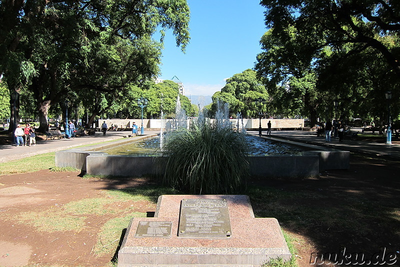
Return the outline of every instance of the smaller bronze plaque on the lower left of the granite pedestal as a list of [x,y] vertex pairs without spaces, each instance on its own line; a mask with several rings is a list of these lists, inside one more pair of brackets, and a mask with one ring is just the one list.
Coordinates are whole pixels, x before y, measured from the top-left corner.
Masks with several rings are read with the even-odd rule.
[[171,237],[171,221],[139,221],[134,237]]

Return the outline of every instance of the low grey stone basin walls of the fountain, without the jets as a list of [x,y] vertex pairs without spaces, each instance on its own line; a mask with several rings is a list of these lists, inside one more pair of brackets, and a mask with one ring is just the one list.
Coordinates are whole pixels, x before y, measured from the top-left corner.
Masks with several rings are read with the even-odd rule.
[[[143,137],[143,138],[151,138]],[[143,138],[137,138],[141,140]],[[274,142],[286,143],[305,150],[296,155],[253,155],[249,156],[250,175],[266,178],[303,178],[317,177],[327,169],[348,169],[349,152],[332,148],[278,140],[271,137],[261,137]],[[115,141],[106,146],[116,146],[131,140]],[[155,157],[109,155],[99,152],[104,144],[83,149],[74,148],[55,153],[57,167],[73,167],[91,175],[141,177],[155,176],[156,171],[162,171],[156,166]],[[158,168],[158,169],[157,169]]]

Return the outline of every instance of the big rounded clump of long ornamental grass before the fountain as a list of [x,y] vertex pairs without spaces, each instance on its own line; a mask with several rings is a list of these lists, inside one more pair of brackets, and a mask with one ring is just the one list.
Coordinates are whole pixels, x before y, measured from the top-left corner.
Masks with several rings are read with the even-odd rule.
[[207,119],[168,133],[162,147],[164,185],[190,194],[235,194],[248,177],[245,135]]

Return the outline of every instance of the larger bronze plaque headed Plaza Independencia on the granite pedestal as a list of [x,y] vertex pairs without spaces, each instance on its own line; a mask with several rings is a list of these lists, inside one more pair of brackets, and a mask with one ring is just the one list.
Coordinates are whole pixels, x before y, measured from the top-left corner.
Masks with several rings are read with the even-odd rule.
[[226,199],[182,199],[178,236],[220,238],[230,235]]

